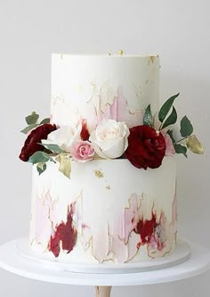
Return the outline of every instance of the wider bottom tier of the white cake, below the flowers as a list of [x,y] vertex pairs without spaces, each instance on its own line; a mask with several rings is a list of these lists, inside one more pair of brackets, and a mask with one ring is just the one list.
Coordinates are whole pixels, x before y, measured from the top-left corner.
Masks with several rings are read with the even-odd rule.
[[70,179],[50,162],[33,170],[30,248],[77,263],[127,263],[163,257],[176,241],[176,166],[71,161]]

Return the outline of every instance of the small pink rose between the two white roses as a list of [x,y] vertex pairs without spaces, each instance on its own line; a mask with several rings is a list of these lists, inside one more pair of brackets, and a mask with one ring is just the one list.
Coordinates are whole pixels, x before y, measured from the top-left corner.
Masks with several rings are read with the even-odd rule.
[[74,160],[85,162],[93,160],[94,149],[89,141],[79,140],[72,144],[70,153]]

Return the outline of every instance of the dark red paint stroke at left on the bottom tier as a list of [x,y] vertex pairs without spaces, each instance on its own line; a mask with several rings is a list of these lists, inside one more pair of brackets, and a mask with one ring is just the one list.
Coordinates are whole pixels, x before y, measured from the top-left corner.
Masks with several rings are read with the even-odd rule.
[[58,257],[61,248],[68,253],[71,252],[77,242],[77,230],[73,226],[73,214],[74,214],[74,204],[71,204],[68,208],[67,222],[61,222],[59,226],[56,227],[56,231],[51,235],[49,243],[49,251]]

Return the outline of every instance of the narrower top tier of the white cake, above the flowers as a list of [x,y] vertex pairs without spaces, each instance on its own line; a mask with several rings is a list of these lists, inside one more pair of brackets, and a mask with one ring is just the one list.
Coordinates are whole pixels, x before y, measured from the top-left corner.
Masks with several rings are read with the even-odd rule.
[[103,119],[142,123],[158,111],[158,56],[52,54],[52,122],[91,130]]

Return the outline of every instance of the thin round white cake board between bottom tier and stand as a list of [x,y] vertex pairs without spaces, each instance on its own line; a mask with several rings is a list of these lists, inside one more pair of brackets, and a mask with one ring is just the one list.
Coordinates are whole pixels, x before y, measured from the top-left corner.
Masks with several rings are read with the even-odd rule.
[[31,263],[36,262],[43,268],[52,270],[69,271],[77,273],[136,273],[147,272],[164,268],[171,268],[182,264],[190,259],[191,249],[190,244],[182,240],[178,240],[174,248],[174,252],[170,252],[165,257],[156,258],[153,260],[144,260],[141,262],[129,263],[82,263],[66,259],[54,258],[52,254],[43,254],[41,251],[32,250],[28,246],[28,237],[21,238],[17,242],[17,251],[21,259],[30,260]]

